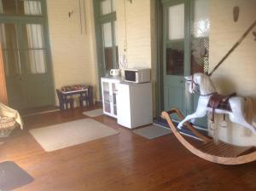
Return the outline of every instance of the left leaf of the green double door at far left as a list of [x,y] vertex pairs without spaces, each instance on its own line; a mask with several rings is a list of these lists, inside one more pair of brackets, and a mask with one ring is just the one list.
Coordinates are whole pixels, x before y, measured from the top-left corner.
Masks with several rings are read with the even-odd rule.
[[20,64],[19,26],[15,23],[1,23],[1,44],[9,105],[26,107],[26,91],[23,81],[24,68]]

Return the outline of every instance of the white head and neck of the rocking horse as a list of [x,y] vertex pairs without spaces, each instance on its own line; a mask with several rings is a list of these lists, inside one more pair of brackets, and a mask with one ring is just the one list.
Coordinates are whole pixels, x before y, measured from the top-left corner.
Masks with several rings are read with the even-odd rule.
[[204,73],[195,73],[192,76],[185,77],[189,93],[201,92],[209,94],[215,91],[212,80]]

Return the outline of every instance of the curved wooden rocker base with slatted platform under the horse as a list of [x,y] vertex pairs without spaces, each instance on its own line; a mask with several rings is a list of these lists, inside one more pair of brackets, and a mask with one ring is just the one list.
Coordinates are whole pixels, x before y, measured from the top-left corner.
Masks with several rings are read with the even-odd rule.
[[177,131],[170,118],[172,113],[177,113],[180,119],[184,119],[183,114],[177,108],[173,108],[169,112],[162,112],[161,117],[166,119],[177,140],[201,159],[222,165],[241,165],[256,160],[256,149],[254,147],[238,147],[224,142],[215,144],[212,138],[203,136],[191,124],[185,123],[185,126],[203,141],[200,146],[192,145]]

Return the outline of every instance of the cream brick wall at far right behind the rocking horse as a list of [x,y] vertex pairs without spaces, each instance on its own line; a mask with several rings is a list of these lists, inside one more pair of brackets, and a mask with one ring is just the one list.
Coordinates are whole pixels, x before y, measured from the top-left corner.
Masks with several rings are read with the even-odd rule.
[[[233,21],[233,7],[240,7],[240,17]],[[256,18],[255,0],[212,0],[210,8],[210,67],[231,49],[241,35],[246,32]],[[256,31],[256,27],[254,30]],[[256,42],[252,32],[224,61],[221,67],[212,75],[218,90],[228,94],[237,92],[241,96],[253,98],[253,108],[256,114]],[[210,69],[211,70],[211,69]],[[221,139],[239,145],[256,145],[256,136],[248,136],[244,127],[230,124],[228,129],[220,128]]]

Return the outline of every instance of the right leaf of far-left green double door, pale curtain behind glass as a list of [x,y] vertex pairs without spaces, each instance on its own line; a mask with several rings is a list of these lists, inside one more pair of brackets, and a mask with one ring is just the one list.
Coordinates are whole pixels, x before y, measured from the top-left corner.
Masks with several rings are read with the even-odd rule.
[[29,22],[20,25],[20,43],[26,84],[27,107],[49,106],[53,103],[53,84],[49,67],[49,52],[44,39],[43,23]]

